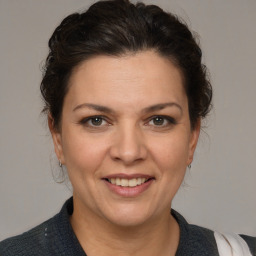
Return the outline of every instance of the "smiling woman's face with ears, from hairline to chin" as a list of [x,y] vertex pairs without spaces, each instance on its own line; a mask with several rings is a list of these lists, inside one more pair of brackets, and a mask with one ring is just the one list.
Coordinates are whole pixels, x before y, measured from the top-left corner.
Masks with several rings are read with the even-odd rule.
[[75,211],[121,226],[169,214],[199,135],[180,71],[153,51],[83,62],[51,130]]

